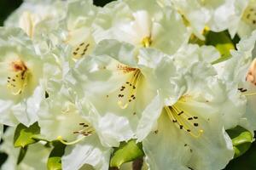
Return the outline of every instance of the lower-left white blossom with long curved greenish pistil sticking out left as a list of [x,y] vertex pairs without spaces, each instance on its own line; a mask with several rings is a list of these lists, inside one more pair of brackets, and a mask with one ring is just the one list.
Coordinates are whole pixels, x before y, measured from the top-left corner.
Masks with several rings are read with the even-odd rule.
[[80,112],[72,92],[61,82],[54,85],[48,90],[49,97],[44,99],[38,111],[38,125],[44,139],[60,140],[67,144],[62,156],[62,168],[79,169],[89,164],[96,169],[108,169],[112,149],[102,146],[97,130],[90,121],[90,111]]

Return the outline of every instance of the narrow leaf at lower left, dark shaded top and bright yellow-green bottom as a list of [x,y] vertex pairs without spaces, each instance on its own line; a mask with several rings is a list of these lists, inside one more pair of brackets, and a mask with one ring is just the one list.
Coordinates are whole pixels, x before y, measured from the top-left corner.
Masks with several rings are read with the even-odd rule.
[[48,170],[61,170],[61,156],[64,155],[66,145],[59,141],[53,142],[54,149],[51,150],[47,161]]

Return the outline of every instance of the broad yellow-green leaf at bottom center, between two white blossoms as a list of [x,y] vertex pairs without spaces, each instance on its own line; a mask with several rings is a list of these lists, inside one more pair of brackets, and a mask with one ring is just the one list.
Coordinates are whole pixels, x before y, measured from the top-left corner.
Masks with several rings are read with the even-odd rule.
[[127,143],[121,142],[119,147],[113,150],[110,167],[120,167],[125,162],[134,161],[143,156],[142,143],[136,143],[134,139],[131,139]]

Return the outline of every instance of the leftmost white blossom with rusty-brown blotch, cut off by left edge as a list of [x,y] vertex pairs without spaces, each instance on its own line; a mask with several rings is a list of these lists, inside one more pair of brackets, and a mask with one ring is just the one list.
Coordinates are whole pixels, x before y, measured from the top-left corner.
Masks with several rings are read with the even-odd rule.
[[44,98],[42,59],[20,29],[1,28],[0,35],[1,123],[31,125]]

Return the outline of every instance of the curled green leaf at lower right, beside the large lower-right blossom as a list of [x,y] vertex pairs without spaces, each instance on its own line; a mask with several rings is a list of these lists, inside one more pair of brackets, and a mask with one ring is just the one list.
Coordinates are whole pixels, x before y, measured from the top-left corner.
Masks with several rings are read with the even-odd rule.
[[243,127],[235,127],[227,131],[232,139],[235,158],[243,155],[253,142],[253,134]]

